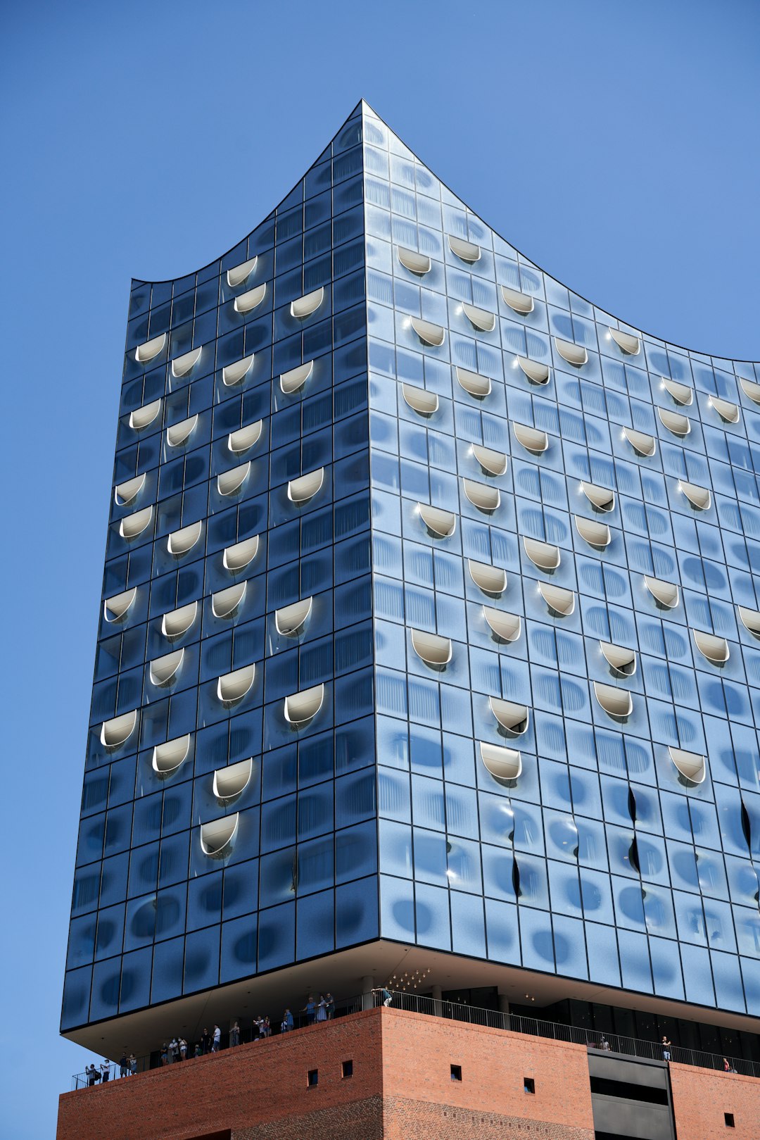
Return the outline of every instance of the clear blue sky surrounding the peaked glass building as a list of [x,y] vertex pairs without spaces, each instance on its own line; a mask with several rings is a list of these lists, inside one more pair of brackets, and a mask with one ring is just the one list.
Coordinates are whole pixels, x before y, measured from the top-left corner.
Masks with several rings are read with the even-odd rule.
[[89,1060],[58,1020],[130,278],[234,245],[363,97],[589,300],[758,359],[760,8],[25,0],[0,24],[0,1096],[5,1135],[47,1140]]

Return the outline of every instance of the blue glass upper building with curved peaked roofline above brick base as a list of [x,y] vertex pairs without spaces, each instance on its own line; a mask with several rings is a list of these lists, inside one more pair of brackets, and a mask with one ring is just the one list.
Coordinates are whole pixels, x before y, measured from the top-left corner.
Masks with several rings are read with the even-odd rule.
[[402,971],[751,1028],[759,472],[760,367],[571,292],[365,103],[133,282],[62,1032]]

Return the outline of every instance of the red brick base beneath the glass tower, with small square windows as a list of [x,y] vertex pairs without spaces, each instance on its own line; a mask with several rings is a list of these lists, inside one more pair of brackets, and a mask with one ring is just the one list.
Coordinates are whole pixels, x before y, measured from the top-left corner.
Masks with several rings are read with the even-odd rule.
[[57,1140],[757,1140],[758,1121],[752,1077],[379,1008],[65,1093]]

